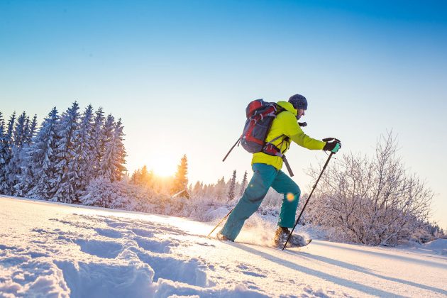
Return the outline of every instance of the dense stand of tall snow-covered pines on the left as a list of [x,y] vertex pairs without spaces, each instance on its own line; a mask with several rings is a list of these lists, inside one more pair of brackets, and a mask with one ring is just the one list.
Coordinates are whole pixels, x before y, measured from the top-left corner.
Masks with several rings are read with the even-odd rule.
[[54,107],[37,127],[23,112],[0,112],[0,193],[79,203],[92,180],[119,181],[126,172],[123,125],[92,105]]

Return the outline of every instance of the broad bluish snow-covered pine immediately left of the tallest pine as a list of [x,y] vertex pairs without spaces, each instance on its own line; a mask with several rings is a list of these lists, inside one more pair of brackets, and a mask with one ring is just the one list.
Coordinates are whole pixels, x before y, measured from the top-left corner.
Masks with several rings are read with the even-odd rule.
[[[26,153],[26,170],[21,174],[18,184],[14,186],[20,197],[31,197],[35,199],[50,199],[49,178],[53,176],[55,158],[56,127],[59,116],[54,107],[48,117],[44,119],[38,133]],[[33,122],[35,120],[33,119]],[[30,133],[33,131],[31,123]],[[29,136],[28,136],[29,137]]]

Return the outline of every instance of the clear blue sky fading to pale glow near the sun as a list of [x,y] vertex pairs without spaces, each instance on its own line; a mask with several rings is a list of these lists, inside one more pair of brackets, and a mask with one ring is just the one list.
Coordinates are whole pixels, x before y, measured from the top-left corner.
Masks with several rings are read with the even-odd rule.
[[[127,167],[189,180],[250,171],[221,159],[252,99],[307,96],[305,132],[372,153],[392,129],[409,170],[436,192],[447,229],[445,1],[0,1],[0,111],[103,106],[125,126]],[[295,146],[304,169],[326,159]]]

